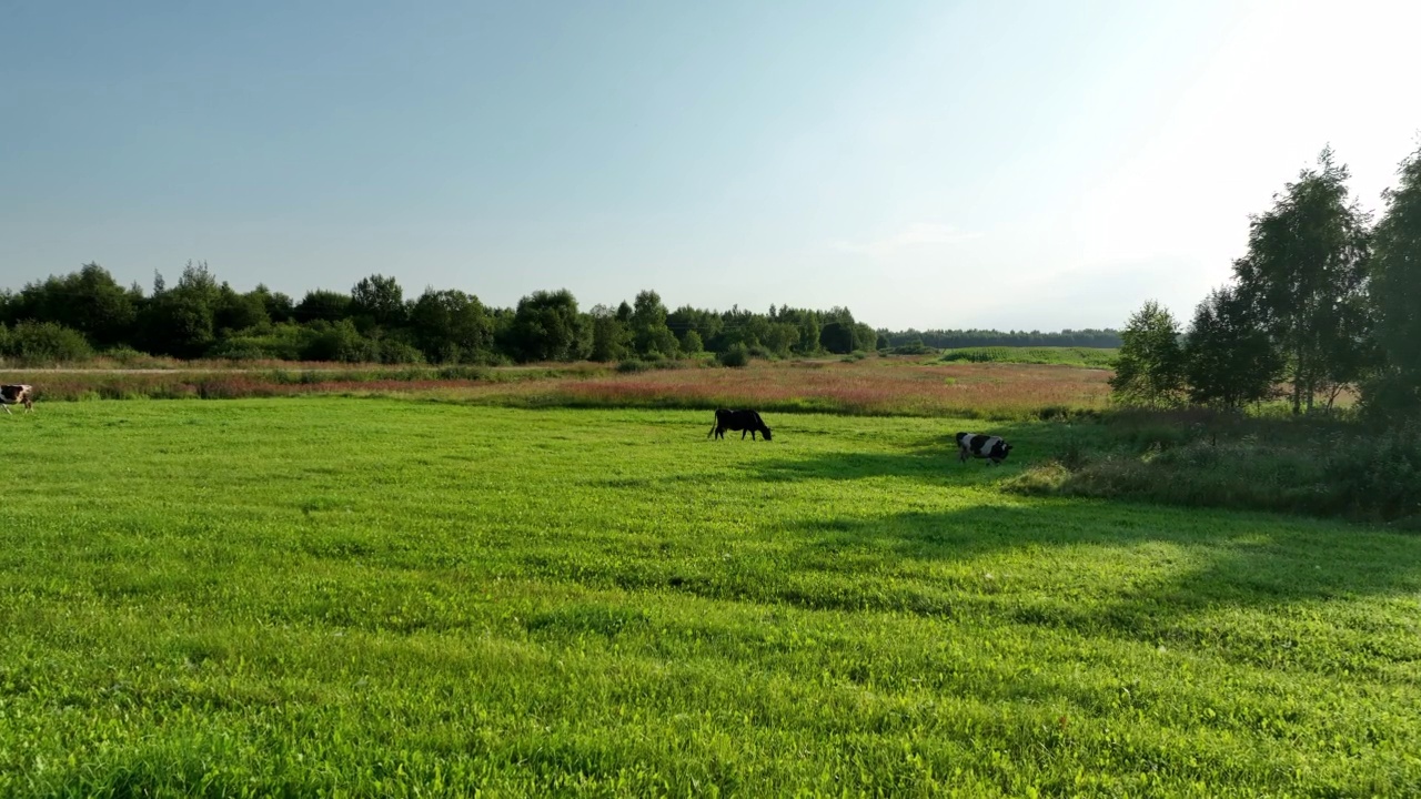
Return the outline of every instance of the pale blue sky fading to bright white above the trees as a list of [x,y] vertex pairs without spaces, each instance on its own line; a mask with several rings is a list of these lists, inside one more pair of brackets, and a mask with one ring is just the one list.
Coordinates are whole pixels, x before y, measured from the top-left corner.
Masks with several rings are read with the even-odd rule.
[[206,260],[874,326],[1187,320],[1324,144],[1421,129],[1418,3],[0,3],[0,287]]

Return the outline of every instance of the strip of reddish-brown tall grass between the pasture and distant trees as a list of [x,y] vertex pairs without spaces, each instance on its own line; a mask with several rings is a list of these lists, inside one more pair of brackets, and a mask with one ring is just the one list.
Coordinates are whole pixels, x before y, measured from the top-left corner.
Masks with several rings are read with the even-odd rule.
[[755,361],[620,372],[612,365],[516,368],[193,370],[155,372],[13,371],[41,402],[134,398],[240,398],[304,394],[421,395],[504,407],[759,408],[854,415],[1022,419],[1098,411],[1108,372],[1063,365],[944,364],[921,358]]

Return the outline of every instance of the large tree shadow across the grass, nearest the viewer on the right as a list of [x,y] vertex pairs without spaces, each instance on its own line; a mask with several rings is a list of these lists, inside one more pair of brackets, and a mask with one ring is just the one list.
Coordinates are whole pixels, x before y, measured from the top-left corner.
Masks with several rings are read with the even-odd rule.
[[[1096,591],[1107,600],[1106,621],[1141,631],[1160,627],[1172,613],[1209,607],[1421,591],[1421,537],[1268,513],[1052,500],[804,522],[794,532],[801,536],[796,560],[804,563],[855,553],[909,566],[988,556],[1000,563],[995,556],[1015,553],[1090,574],[1093,567],[1106,569],[1097,560],[1106,552],[1115,583]],[[1090,586],[1080,587],[1090,593]],[[1022,616],[1086,621],[1069,603],[1057,603],[1046,616],[1040,608]]]

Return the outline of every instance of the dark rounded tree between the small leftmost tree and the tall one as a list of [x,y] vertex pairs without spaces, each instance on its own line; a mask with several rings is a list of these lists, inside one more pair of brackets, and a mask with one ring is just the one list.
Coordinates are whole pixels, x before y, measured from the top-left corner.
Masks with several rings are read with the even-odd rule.
[[1282,358],[1238,291],[1216,289],[1194,311],[1184,374],[1191,402],[1238,408],[1273,394]]

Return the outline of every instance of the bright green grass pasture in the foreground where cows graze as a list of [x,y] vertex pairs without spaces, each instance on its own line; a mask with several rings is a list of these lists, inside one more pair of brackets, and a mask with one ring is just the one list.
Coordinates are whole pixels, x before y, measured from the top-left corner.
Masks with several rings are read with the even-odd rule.
[[766,421],[0,418],[0,796],[1421,795],[1421,539]]

